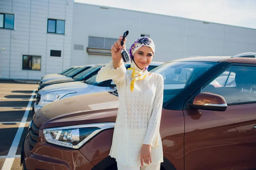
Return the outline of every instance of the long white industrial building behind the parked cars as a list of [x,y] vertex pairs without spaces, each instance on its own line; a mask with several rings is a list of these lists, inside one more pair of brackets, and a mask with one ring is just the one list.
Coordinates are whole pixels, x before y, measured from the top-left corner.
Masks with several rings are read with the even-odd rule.
[[0,0],[0,78],[40,79],[109,62],[111,45],[126,30],[127,48],[141,35],[154,40],[154,61],[256,52],[256,29],[73,0]]

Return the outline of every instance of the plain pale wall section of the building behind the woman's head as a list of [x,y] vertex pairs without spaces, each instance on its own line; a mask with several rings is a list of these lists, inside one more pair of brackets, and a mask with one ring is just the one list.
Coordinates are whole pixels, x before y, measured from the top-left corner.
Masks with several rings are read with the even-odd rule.
[[110,56],[86,53],[88,36],[118,38],[126,30],[127,48],[141,34],[150,35],[156,46],[154,61],[256,52],[256,29],[75,3],[72,45],[84,45],[84,51],[72,46],[71,65],[110,61]]

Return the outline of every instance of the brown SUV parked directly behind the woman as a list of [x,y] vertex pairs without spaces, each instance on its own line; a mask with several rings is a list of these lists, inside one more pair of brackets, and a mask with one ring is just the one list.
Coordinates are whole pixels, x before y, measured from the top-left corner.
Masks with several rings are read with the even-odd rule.
[[[154,70],[164,77],[161,170],[256,169],[256,58],[192,57]],[[117,91],[45,105],[21,151],[27,170],[116,170],[108,156]]]

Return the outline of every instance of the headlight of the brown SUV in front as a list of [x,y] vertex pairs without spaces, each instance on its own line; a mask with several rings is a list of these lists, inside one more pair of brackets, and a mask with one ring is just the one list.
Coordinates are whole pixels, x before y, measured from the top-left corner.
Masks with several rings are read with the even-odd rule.
[[79,149],[102,130],[115,127],[113,122],[54,127],[43,130],[46,142],[62,147]]

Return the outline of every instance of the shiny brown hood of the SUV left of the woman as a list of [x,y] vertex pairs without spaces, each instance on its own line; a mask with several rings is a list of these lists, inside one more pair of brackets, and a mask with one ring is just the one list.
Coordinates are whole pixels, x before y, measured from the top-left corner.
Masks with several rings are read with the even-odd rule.
[[84,94],[57,100],[39,109],[33,121],[37,127],[116,122],[118,97],[108,92]]

